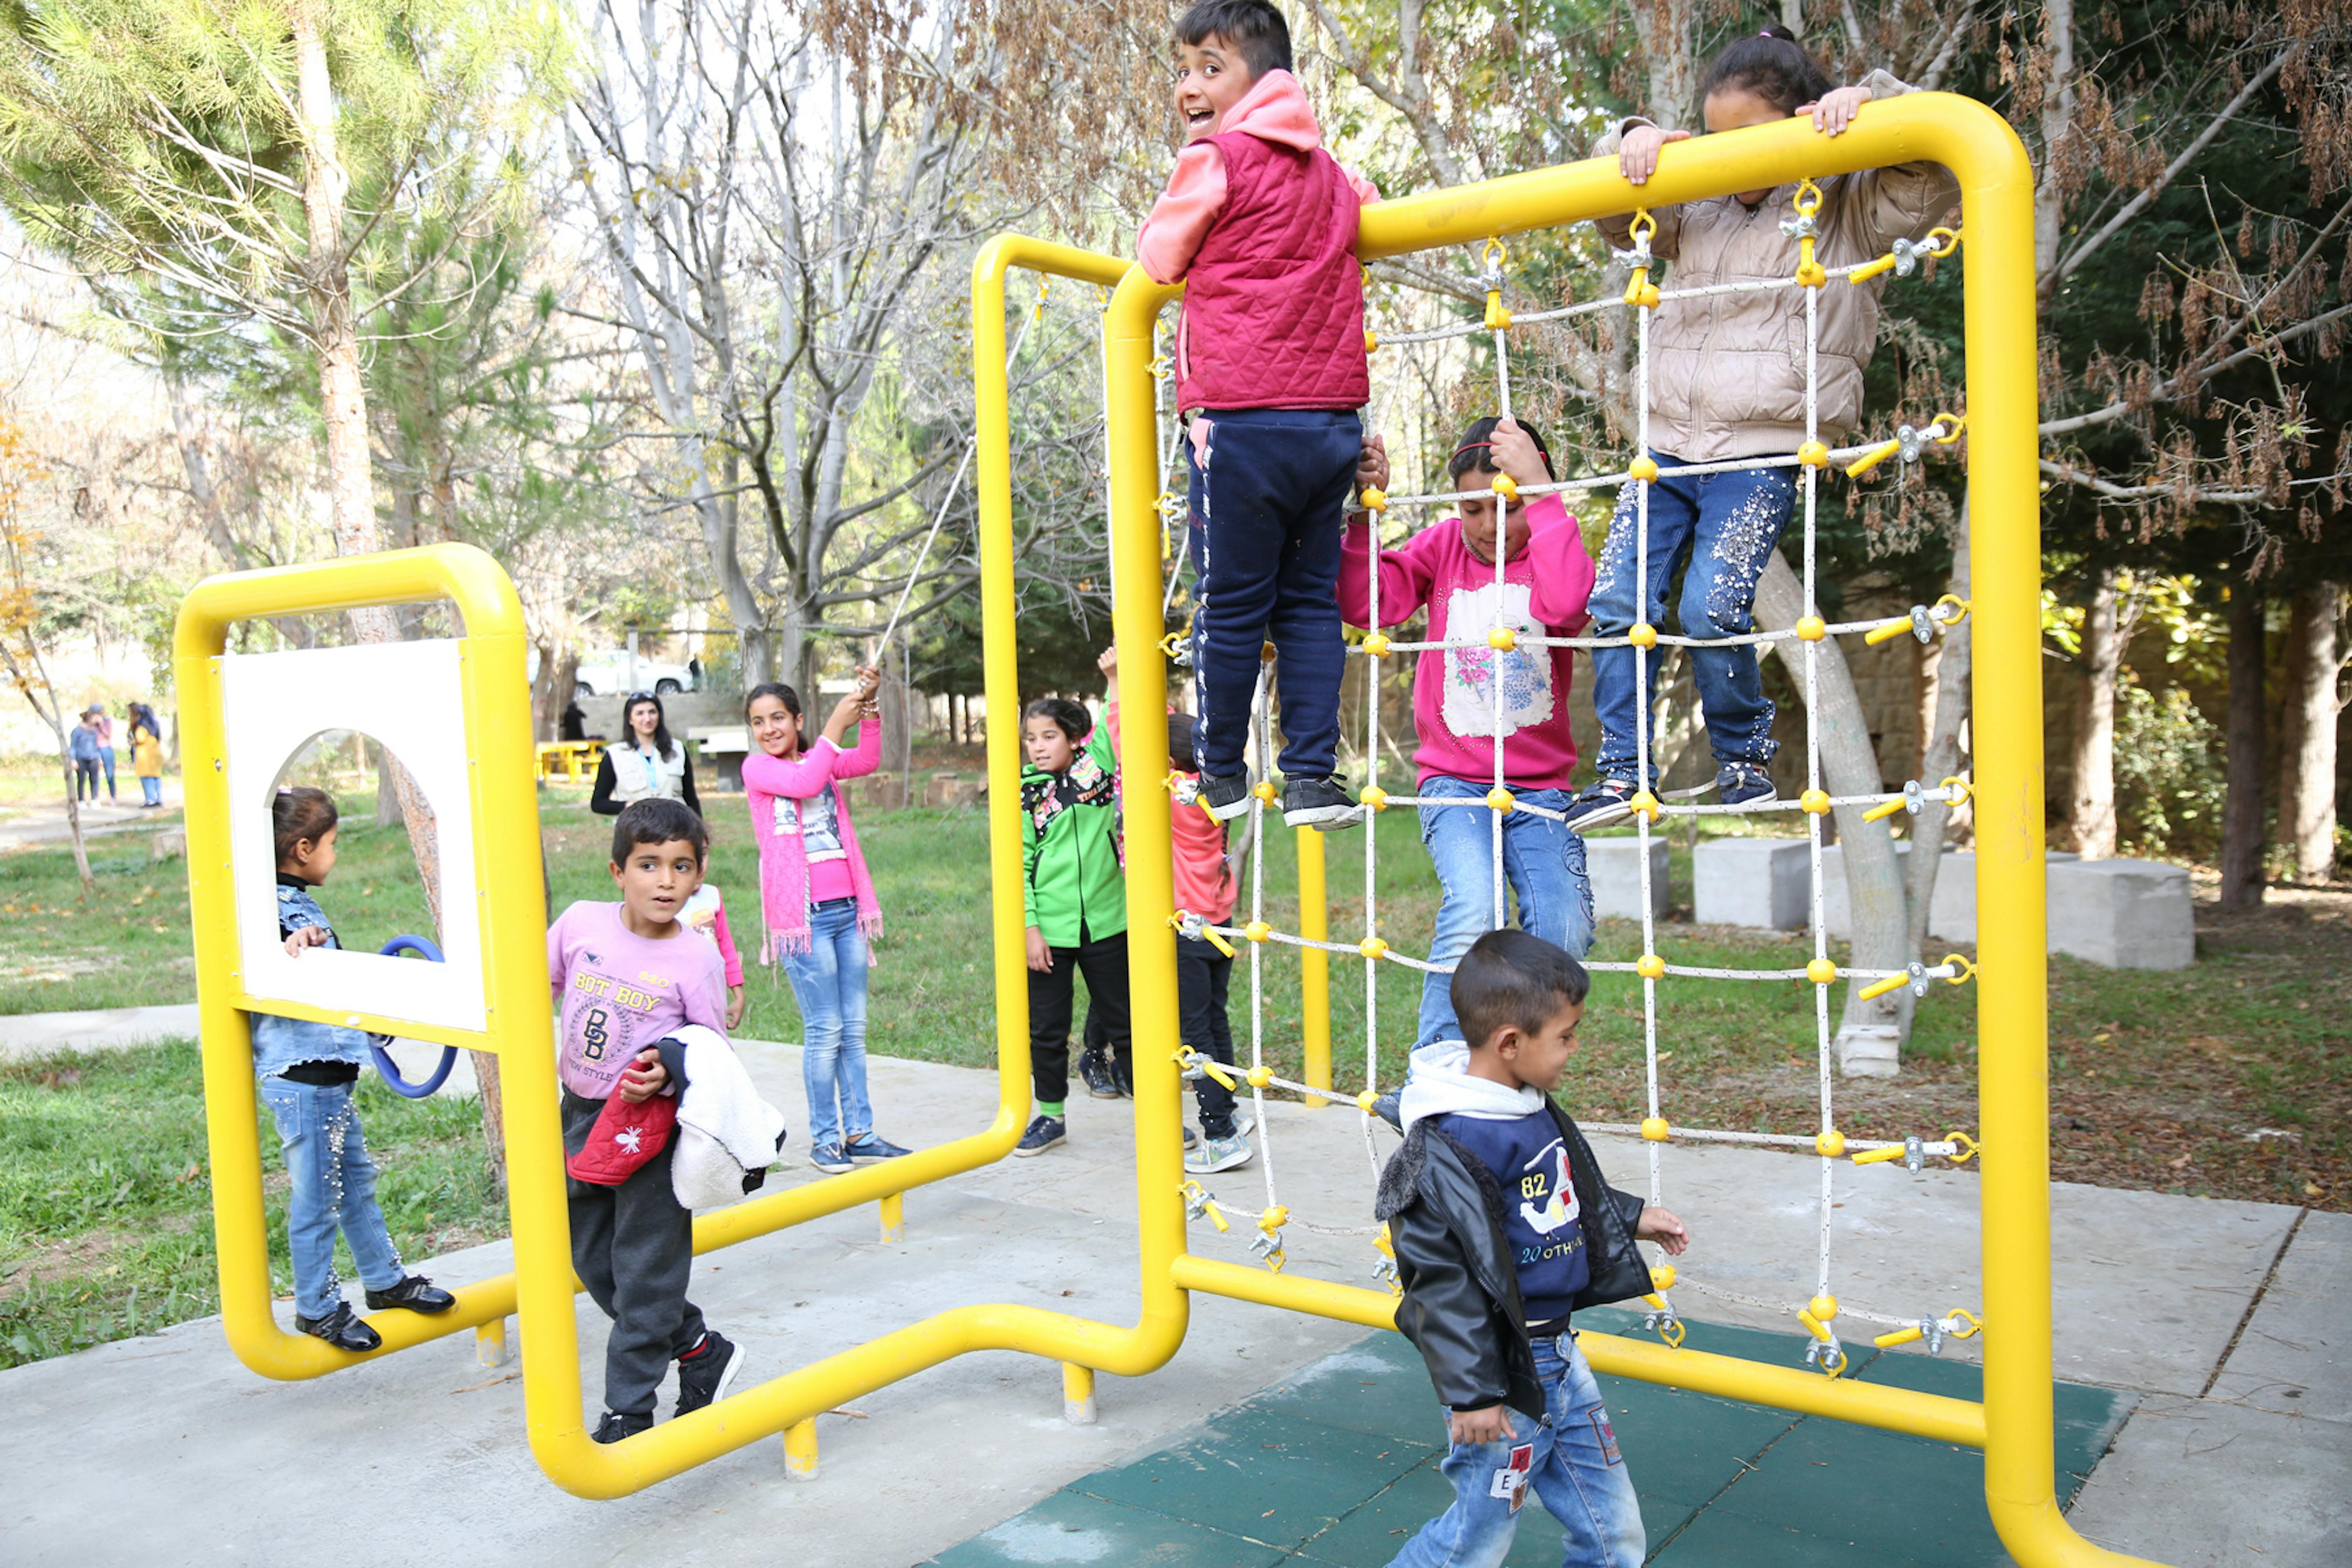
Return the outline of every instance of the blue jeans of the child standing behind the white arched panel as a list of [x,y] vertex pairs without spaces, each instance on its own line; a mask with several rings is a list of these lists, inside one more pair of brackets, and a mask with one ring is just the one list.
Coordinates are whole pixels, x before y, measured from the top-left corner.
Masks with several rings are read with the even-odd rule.
[[360,1284],[400,1284],[400,1253],[376,1206],[376,1161],[360,1135],[355,1084],[261,1079],[261,1103],[278,1121],[278,1145],[294,1190],[287,1197],[287,1251],[294,1253],[294,1312],[322,1319],[343,1300],[334,1276],[334,1232],[350,1244]]

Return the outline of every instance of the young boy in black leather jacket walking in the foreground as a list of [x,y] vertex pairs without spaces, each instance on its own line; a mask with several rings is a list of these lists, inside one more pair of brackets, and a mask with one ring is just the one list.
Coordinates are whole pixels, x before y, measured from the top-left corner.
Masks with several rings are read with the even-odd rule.
[[[1564,1563],[1639,1568],[1642,1505],[1569,1312],[1644,1295],[1635,1241],[1689,1234],[1602,1180],[1548,1091],[1576,1048],[1583,964],[1526,931],[1489,931],[1454,971],[1463,1041],[1414,1051],[1404,1147],[1381,1173],[1397,1248],[1397,1328],[1446,1406],[1454,1507],[1392,1568],[1494,1568],[1534,1490],[1566,1528]],[[1512,1420],[1512,1410],[1519,1420]]]

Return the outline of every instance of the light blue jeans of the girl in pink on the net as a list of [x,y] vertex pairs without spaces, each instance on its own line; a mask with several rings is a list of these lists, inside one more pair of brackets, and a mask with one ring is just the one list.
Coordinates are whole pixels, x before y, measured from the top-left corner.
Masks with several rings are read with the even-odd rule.
[[[1486,799],[1489,785],[1468,778],[1425,778],[1421,795]],[[1566,790],[1515,790],[1548,811],[1569,804]],[[1494,929],[1494,813],[1475,806],[1423,806],[1421,842],[1437,863],[1437,940],[1430,964],[1451,964],[1470,943]],[[1585,842],[1562,823],[1512,811],[1503,818],[1503,879],[1519,900],[1519,929],[1585,957],[1592,950],[1592,882],[1585,879]],[[1458,1039],[1454,976],[1423,976],[1421,1032],[1414,1044]]]

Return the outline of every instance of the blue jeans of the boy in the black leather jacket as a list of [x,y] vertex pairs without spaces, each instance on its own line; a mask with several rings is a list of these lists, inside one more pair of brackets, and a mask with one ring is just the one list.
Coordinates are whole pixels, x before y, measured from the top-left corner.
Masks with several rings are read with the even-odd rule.
[[[1562,1526],[1559,1561],[1566,1568],[1642,1568],[1649,1549],[1642,1502],[1632,1495],[1609,1408],[1576,1340],[1536,1340],[1536,1375],[1543,1380],[1543,1422],[1512,1410],[1515,1439],[1454,1443],[1442,1465],[1454,1483],[1454,1507],[1421,1526],[1390,1568],[1496,1568],[1519,1528],[1510,1509],[1512,1486],[1498,1481],[1522,1469],[1515,1458],[1524,1460],[1524,1486]],[[1515,1455],[1517,1448],[1529,1453]]]

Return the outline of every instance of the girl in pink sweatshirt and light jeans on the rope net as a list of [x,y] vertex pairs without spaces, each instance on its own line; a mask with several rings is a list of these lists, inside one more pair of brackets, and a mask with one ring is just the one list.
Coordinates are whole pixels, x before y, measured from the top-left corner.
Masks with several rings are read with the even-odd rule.
[[[1517,484],[1550,484],[1552,454],[1543,435],[1510,418],[1479,418],[1463,430],[1446,473],[1458,491],[1491,489],[1496,473]],[[1388,480],[1378,442],[1367,449],[1367,482]],[[1378,552],[1381,625],[1402,625],[1428,607],[1430,642],[1484,642],[1496,625],[1519,637],[1573,637],[1585,625],[1592,557],[1557,494],[1503,503],[1503,583],[1494,581],[1496,498],[1461,503],[1461,515],[1423,529],[1397,550]],[[1338,604],[1352,625],[1371,625],[1374,531],[1362,515],[1348,524],[1341,555]],[[1501,715],[1496,715],[1501,661]],[[1463,802],[1421,806],[1421,842],[1437,863],[1442,900],[1432,964],[1451,964],[1494,919],[1494,820],[1484,806],[1494,788],[1494,736],[1503,733],[1503,785],[1519,804],[1555,816],[1503,816],[1503,875],[1519,900],[1519,926],[1571,957],[1592,947],[1592,884],[1585,842],[1557,820],[1569,804],[1576,738],[1569,733],[1573,649],[1486,646],[1428,649],[1414,670],[1414,764],[1423,799]],[[1430,973],[1421,987],[1416,1046],[1458,1039],[1451,976]]]

